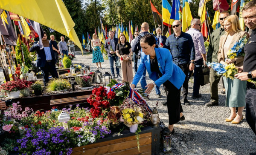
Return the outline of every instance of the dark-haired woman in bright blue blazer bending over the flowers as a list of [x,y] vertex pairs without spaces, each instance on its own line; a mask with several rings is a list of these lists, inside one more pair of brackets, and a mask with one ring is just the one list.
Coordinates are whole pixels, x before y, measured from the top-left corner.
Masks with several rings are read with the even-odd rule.
[[156,40],[152,34],[146,34],[140,40],[142,49],[140,66],[131,83],[134,89],[146,67],[149,78],[153,83],[149,83],[145,93],[149,94],[155,86],[161,86],[166,91],[167,108],[169,115],[169,129],[174,133],[173,124],[180,121],[183,109],[180,103],[180,88],[185,80],[183,71],[172,62],[172,55],[168,49],[158,48]]

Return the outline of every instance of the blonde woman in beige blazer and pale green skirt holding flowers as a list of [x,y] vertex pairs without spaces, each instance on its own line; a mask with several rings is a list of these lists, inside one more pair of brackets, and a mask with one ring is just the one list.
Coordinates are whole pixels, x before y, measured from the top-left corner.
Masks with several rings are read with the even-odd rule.
[[[234,64],[235,66],[243,66],[244,52],[240,48],[245,43],[237,43],[241,38],[246,36],[249,38],[249,34],[241,30],[239,24],[239,18],[236,15],[230,15],[224,21],[225,35],[220,38],[220,45],[218,51],[218,61],[224,65]],[[234,46],[236,45],[236,46]],[[239,52],[238,52],[239,51]],[[238,54],[239,53],[239,54]],[[226,103],[225,106],[229,106],[231,110],[230,116],[226,119],[227,122],[234,124],[240,123],[243,119],[243,109],[245,106],[245,94],[246,94],[246,81],[240,81],[233,79],[233,77],[225,78],[224,85],[226,88]],[[236,114],[236,107],[238,112]]]

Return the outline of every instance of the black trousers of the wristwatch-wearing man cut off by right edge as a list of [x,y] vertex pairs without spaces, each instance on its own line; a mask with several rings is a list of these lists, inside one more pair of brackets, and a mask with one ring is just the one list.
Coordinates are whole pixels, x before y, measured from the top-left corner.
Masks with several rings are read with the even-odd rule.
[[256,89],[247,88],[245,95],[246,121],[256,135]]

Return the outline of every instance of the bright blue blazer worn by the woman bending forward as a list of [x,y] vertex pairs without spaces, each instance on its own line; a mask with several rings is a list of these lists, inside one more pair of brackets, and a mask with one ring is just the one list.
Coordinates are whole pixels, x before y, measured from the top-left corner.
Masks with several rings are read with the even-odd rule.
[[159,66],[160,72],[163,74],[162,77],[159,78],[156,72],[151,72],[150,70],[150,56],[145,55],[144,52],[141,52],[140,57],[140,66],[132,84],[135,86],[139,82],[141,76],[143,75],[143,71],[146,67],[148,71],[149,78],[154,81],[157,86],[161,86],[166,80],[169,80],[177,89],[183,85],[185,80],[185,74],[175,63],[172,62],[172,55],[168,49],[165,48],[154,48],[156,52],[157,62]]

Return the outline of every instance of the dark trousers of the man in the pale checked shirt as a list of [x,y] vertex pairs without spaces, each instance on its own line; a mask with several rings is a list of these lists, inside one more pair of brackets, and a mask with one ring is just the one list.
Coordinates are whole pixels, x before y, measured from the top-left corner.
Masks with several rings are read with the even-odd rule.
[[[204,64],[203,59],[199,59],[195,61],[195,69],[194,69],[194,85],[193,85],[193,96],[197,96],[199,95],[199,89],[200,89],[200,84],[199,84],[199,71],[202,68]],[[188,75],[188,81],[189,78],[191,77],[193,71],[189,71],[189,75]]]

